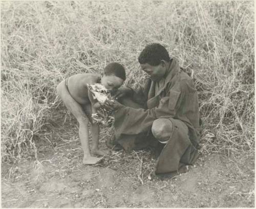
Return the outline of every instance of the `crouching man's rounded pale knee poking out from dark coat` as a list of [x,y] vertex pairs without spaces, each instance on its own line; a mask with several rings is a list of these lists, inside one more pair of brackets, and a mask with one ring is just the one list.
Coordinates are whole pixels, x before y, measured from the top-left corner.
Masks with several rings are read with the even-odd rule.
[[168,119],[157,119],[153,122],[152,133],[159,142],[168,141],[173,133],[173,123]]

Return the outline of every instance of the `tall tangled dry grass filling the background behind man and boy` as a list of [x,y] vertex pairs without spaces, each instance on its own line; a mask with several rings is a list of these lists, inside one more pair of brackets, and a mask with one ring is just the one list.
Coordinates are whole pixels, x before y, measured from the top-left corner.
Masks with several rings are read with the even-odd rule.
[[[56,85],[123,64],[125,84],[144,75],[138,55],[163,44],[195,79],[203,153],[254,152],[253,2],[1,2],[2,157],[36,154],[63,106]],[[61,107],[61,108],[60,108]]]

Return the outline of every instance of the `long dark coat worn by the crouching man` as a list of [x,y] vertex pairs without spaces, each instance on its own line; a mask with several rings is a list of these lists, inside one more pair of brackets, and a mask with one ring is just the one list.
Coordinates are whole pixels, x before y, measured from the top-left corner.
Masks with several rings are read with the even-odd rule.
[[124,106],[114,114],[116,138],[121,137],[122,134],[150,131],[154,120],[159,118],[178,119],[186,124],[188,136],[175,133],[174,129],[171,141],[180,142],[180,147],[172,150],[171,143],[165,145],[156,165],[156,173],[177,171],[180,162],[193,163],[199,143],[200,117],[197,90],[193,80],[186,73],[181,72],[177,60],[170,61],[170,66],[161,81],[148,79],[144,88],[134,90],[134,101],[144,103],[146,109]]

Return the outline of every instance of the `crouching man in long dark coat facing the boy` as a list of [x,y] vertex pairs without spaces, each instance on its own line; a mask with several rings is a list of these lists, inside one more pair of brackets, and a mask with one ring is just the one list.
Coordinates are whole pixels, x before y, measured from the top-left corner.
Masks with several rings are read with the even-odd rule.
[[144,87],[121,87],[116,93],[119,102],[108,107],[115,110],[115,144],[125,149],[135,149],[142,141],[162,144],[155,173],[172,176],[197,158],[197,90],[161,44],[147,45],[138,60],[148,76]]

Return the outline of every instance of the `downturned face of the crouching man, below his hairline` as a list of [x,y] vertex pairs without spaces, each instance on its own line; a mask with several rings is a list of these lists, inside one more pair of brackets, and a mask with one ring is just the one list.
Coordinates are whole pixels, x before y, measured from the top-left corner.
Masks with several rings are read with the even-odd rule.
[[161,62],[159,65],[156,65],[156,66],[152,66],[148,63],[140,64],[140,67],[142,71],[147,73],[147,75],[153,81],[161,80],[166,72],[166,66],[165,66],[165,63],[163,62]]

